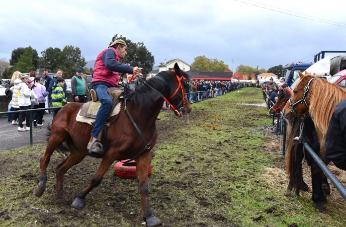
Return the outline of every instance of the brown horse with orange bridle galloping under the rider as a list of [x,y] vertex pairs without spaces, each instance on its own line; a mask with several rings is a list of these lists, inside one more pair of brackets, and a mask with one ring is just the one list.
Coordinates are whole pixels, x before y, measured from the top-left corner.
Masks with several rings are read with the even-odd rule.
[[[164,99],[172,105],[177,115],[181,112],[188,114],[191,111],[191,106],[184,94],[184,83],[181,82],[183,76],[190,79],[189,75],[182,72],[175,64],[174,71],[160,72],[135,92],[121,99],[119,116],[107,127],[102,137],[105,154],[98,171],[91,182],[78,193],[71,205],[73,208],[83,208],[86,195],[100,184],[103,175],[115,160],[135,158],[143,219],[148,227],[162,224],[152,215],[149,206],[148,169],[152,160],[150,150],[156,143],[156,118]],[[55,116],[45,154],[40,160],[39,183],[34,189],[36,196],[41,196],[45,191],[46,168],[52,153],[61,143],[65,143],[70,155],[56,166],[56,195],[58,197],[63,195],[64,174],[88,155],[86,145],[92,127],[76,121],[82,105],[83,103],[68,103]]]

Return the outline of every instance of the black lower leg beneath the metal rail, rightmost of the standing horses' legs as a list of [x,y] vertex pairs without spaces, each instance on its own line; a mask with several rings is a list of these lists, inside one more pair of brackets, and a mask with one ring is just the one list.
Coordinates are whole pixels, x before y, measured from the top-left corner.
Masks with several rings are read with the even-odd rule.
[[312,181],[312,201],[316,203],[316,209],[325,213],[323,203],[327,201],[322,190],[322,170],[316,162],[311,164],[311,181]]

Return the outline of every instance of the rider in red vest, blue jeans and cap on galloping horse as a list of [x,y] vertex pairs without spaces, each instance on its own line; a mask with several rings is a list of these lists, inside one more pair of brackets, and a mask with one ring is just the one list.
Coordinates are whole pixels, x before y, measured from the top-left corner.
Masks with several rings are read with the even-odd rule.
[[101,106],[97,111],[94,128],[91,131],[90,141],[86,147],[89,154],[103,155],[103,146],[97,141],[97,137],[102,131],[113,104],[112,99],[107,94],[107,89],[118,87],[119,73],[139,76],[142,72],[142,69],[139,67],[131,67],[120,62],[126,54],[127,45],[125,41],[118,39],[110,44],[108,48],[102,50],[96,57],[91,87],[95,90]]

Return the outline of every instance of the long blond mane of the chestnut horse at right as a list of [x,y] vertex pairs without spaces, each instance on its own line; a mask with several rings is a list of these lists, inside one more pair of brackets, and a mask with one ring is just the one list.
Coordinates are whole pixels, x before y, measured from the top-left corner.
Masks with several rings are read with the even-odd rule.
[[[311,76],[308,77],[308,79],[310,78]],[[346,90],[325,79],[316,77],[311,82],[306,98],[309,103],[311,118],[317,131],[322,133],[323,141],[325,141],[329,121],[335,107],[346,98]]]

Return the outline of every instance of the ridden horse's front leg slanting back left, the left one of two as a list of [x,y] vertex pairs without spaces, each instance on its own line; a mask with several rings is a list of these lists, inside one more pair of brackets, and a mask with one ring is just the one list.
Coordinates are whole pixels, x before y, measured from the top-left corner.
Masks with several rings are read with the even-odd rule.
[[101,183],[103,175],[107,172],[109,166],[114,162],[115,155],[112,155],[112,154],[114,154],[114,151],[111,151],[111,150],[106,151],[106,154],[103,157],[95,176],[91,179],[91,182],[82,191],[80,191],[80,193],[78,193],[76,199],[71,204],[71,207],[76,209],[83,208],[84,199],[86,198],[86,195],[94,187],[97,187]]

